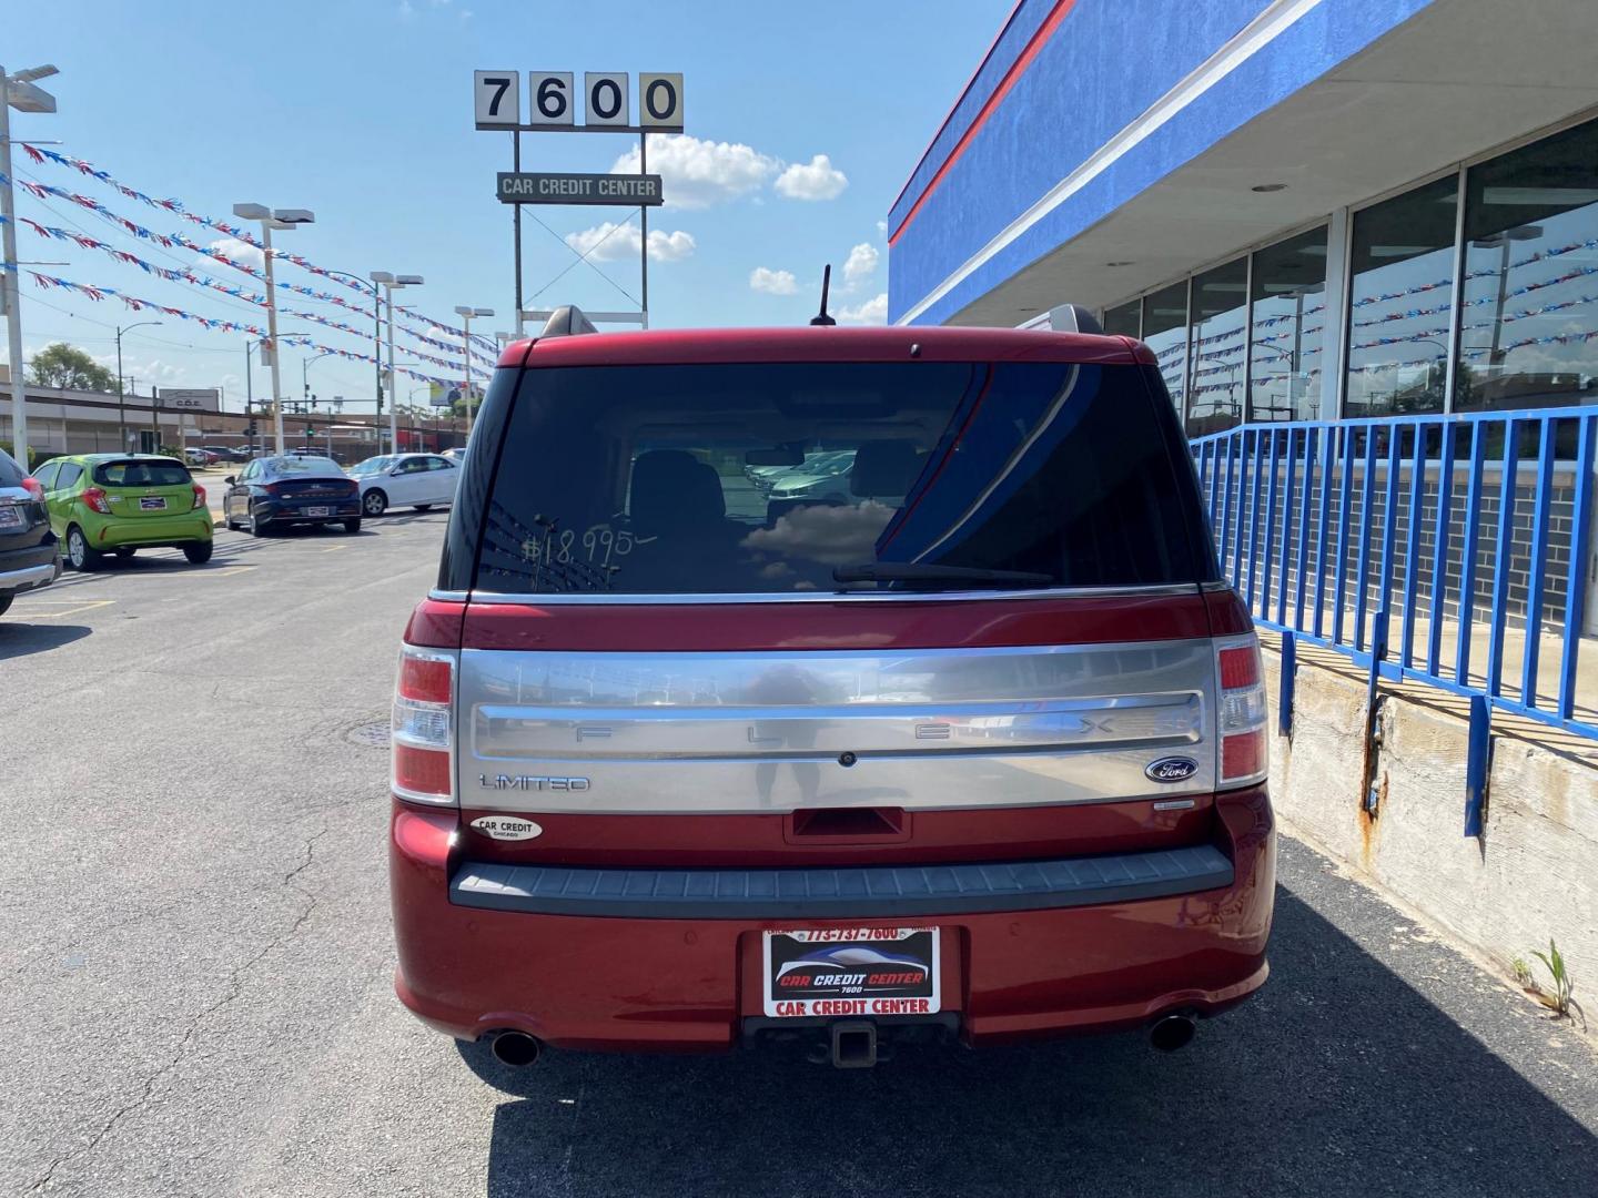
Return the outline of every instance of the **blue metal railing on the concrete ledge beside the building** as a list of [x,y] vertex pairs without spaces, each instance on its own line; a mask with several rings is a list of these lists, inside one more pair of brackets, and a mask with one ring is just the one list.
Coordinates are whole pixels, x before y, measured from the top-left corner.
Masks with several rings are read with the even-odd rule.
[[1258,623],[1598,738],[1595,442],[1598,407],[1563,407],[1245,425],[1192,454]]

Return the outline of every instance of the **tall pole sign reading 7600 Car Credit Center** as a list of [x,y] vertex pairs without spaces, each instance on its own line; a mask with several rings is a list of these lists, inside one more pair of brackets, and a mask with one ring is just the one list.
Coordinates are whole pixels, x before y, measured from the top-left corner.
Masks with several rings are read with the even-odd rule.
[[[649,209],[663,203],[658,174],[649,174],[650,133],[682,133],[681,72],[639,73],[634,93],[626,72],[590,70],[577,91],[572,70],[531,70],[527,89],[518,70],[478,70],[471,77],[473,123],[511,134],[511,169],[495,180],[495,196],[511,204],[516,257],[516,332],[521,334],[521,204],[614,204],[638,208],[642,238],[639,267],[642,326],[649,327]],[[638,120],[633,120],[633,97]],[[526,120],[523,99],[526,97]],[[582,109],[582,123],[577,112]],[[638,136],[638,174],[524,173],[524,133],[625,133]]]

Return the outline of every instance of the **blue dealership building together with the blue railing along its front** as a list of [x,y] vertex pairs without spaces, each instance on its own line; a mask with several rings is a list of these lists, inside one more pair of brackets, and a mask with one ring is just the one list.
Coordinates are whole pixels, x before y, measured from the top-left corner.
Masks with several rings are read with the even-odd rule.
[[1598,0],[1020,0],[890,209],[888,319],[1098,311],[1262,625],[1366,660],[1381,615],[1384,671],[1598,736],[1593,46]]

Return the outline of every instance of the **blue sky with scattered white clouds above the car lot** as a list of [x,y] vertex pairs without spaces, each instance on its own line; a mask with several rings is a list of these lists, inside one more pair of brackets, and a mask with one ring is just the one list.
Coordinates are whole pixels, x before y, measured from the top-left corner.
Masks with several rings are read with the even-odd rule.
[[[185,212],[244,225],[235,203],[308,208],[315,224],[280,233],[275,248],[364,276],[414,273],[396,292],[435,321],[454,308],[492,308],[475,332],[513,327],[511,208],[494,196],[508,171],[507,133],[473,128],[473,70],[682,72],[679,139],[650,144],[649,169],[666,204],[650,209],[652,327],[797,324],[815,313],[821,267],[833,264],[833,311],[880,323],[887,300],[882,220],[1013,0],[280,0],[270,6],[176,0],[0,0],[0,62],[53,62],[42,80],[54,115],[13,112],[18,142],[93,163],[133,190],[181,201]],[[633,96],[636,109],[638,97]],[[523,99],[523,110],[527,99]],[[524,171],[636,169],[628,134],[524,134]],[[19,182],[89,196],[160,235],[182,233],[235,260],[259,251],[182,216],[120,195],[18,147]],[[86,233],[160,268],[192,268],[222,286],[264,294],[259,281],[182,248],[141,240],[59,196],[18,190],[18,216]],[[636,310],[636,209],[523,209],[524,305]],[[633,217],[630,227],[607,225]],[[542,227],[540,225],[547,225]],[[606,238],[606,233],[610,233]],[[225,243],[225,244],[224,244]],[[604,272],[580,262],[591,251]],[[594,249],[594,246],[598,246]],[[213,319],[265,326],[264,308],[216,289],[166,281],[104,249],[18,230],[24,358],[54,340],[115,371],[115,326],[158,319],[123,335],[123,375],[141,391],[221,387],[243,409],[244,332],[208,331],[161,313],[133,313],[113,297],[42,291],[29,270]],[[278,281],[361,303],[356,291],[278,260]],[[294,307],[369,329],[369,318],[278,291]],[[414,321],[444,345],[451,334]],[[401,324],[404,332],[406,324]],[[371,337],[280,315],[280,334],[369,351]],[[3,345],[0,345],[3,350]],[[284,348],[284,398],[310,391],[369,411],[372,367]],[[400,363],[449,350],[400,337]],[[459,355],[457,355],[459,356]],[[454,372],[459,377],[459,371]],[[268,391],[256,366],[254,391]],[[401,379],[401,395],[420,380]],[[417,403],[425,403],[419,393]]]

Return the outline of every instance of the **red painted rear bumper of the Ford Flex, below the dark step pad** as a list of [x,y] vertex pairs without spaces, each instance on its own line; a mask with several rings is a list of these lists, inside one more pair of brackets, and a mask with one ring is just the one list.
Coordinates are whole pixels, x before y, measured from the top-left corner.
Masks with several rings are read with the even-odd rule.
[[[762,930],[900,926],[914,918],[943,930],[943,1006],[957,1014],[960,1038],[972,1045],[1130,1029],[1171,1010],[1214,1014],[1266,979],[1275,885],[1266,791],[1224,795],[1216,810],[1216,848],[1230,866],[1224,885],[1211,885],[1219,874],[1200,871],[1192,885],[1203,888],[1176,885],[1181,893],[1114,898],[1101,890],[1083,902],[1077,893],[1059,906],[1029,907],[1040,899],[1005,904],[984,891],[978,901],[924,896],[912,909],[895,909],[901,914],[880,914],[861,898],[818,918],[773,915],[765,906],[745,907],[749,914],[727,906],[724,917],[692,906],[658,917],[598,914],[602,904],[580,914],[580,899],[561,914],[505,909],[518,901],[515,893],[495,899],[499,907],[463,906],[468,875],[489,871],[452,859],[455,811],[396,802],[395,989],[425,1022],[463,1040],[518,1029],[564,1048],[714,1051],[730,1048],[745,1021],[762,1016]],[[833,871],[777,871],[805,872]],[[503,880],[494,885],[503,888]],[[614,901],[609,909],[623,910]]]

